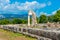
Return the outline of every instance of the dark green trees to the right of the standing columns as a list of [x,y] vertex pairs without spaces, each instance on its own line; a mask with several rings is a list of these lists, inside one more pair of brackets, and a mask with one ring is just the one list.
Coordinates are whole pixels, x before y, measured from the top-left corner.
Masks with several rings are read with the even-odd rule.
[[54,15],[46,16],[43,14],[39,17],[39,23],[47,23],[47,22],[59,22],[60,23],[60,10],[58,10]]

